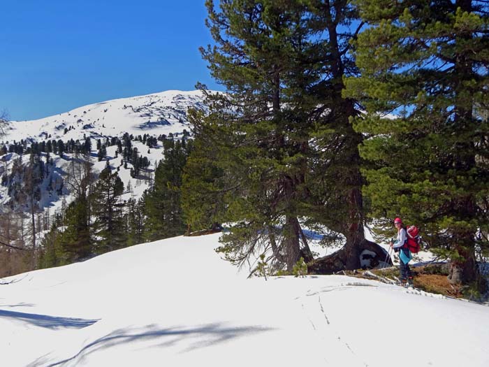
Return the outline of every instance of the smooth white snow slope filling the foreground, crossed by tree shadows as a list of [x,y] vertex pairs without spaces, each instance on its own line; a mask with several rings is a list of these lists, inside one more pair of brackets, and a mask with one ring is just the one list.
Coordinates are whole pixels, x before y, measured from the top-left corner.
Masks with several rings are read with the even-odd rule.
[[0,365],[489,366],[486,306],[337,275],[247,280],[218,238],[4,280]]

